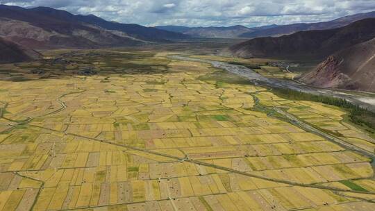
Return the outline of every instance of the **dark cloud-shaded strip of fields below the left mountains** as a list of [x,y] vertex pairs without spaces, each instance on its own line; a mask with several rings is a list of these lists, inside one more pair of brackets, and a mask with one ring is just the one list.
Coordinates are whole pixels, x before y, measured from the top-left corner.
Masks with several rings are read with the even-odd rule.
[[168,58],[151,51],[68,51],[44,56],[42,60],[0,65],[0,81],[31,81],[68,76],[112,74],[164,74]]

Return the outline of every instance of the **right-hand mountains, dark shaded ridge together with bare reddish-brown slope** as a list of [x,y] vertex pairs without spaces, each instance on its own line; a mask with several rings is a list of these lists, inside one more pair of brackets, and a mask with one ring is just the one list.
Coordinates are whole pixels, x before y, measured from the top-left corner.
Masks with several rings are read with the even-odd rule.
[[317,87],[375,92],[375,18],[341,28],[258,37],[224,53],[242,58],[322,60],[296,79]]

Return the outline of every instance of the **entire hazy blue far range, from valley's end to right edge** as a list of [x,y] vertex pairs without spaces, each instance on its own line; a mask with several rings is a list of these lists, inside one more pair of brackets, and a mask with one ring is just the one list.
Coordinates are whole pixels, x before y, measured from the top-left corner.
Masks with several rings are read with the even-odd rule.
[[192,37],[217,37],[217,38],[255,38],[255,37],[280,37],[282,35],[290,35],[298,31],[324,30],[330,28],[340,28],[347,26],[360,19],[375,17],[375,12],[360,13],[334,19],[329,22],[318,23],[300,23],[289,25],[269,25],[248,28],[245,26],[229,26],[229,27],[185,27],[185,26],[156,26],[156,28],[166,31],[183,33]]

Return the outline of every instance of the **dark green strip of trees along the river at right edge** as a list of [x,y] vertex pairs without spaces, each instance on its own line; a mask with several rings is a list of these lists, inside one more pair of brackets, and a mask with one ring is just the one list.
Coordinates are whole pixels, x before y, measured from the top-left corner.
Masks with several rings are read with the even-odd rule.
[[[281,88],[274,89],[273,92],[274,94],[281,96],[285,99],[299,101],[315,101],[327,105],[335,105],[340,108],[344,108],[349,112],[349,119],[354,124],[358,124],[360,126],[367,126],[372,130],[375,129],[375,113],[365,108],[361,108],[358,105],[354,105],[353,103],[345,99],[339,99],[332,96],[309,94],[300,91]],[[372,130],[369,130],[369,132],[374,133],[374,131]]]

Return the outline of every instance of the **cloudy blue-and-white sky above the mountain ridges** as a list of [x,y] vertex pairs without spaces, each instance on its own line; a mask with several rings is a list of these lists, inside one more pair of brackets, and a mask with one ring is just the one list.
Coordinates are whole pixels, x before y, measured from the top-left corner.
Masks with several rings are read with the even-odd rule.
[[374,0],[0,0],[144,26],[265,26],[322,22],[375,10]]

